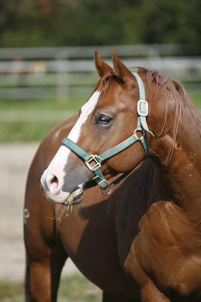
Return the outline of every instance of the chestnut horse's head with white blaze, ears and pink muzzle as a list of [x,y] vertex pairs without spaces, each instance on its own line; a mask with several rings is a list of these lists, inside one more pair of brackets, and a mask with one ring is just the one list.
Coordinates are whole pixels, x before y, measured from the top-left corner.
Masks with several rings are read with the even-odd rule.
[[[113,64],[114,69],[106,64],[97,52],[95,53],[95,65],[101,79],[89,100],[80,109],[79,118],[68,135],[68,141],[76,143],[89,155],[99,156],[121,144],[133,136],[139,126],[137,113],[140,98],[139,84],[114,50]],[[145,85],[146,78],[143,82]],[[145,92],[148,95],[147,85],[145,85]],[[149,127],[151,130],[155,129],[154,122],[149,124]],[[147,141],[150,143],[151,131],[146,131],[148,131]],[[137,139],[142,137],[142,133],[143,129],[138,130],[135,137]],[[146,136],[144,134],[144,139]],[[132,171],[144,158],[145,147],[142,141],[136,141],[117,152],[115,156],[102,160],[100,170],[107,183],[111,177],[119,173]],[[96,162],[95,159],[90,160],[90,166]],[[82,201],[85,189],[96,185],[93,178],[94,172],[87,167],[79,153],[72,152],[62,144],[43,173],[41,183],[49,201],[63,204],[74,192],[74,204],[76,204]]]

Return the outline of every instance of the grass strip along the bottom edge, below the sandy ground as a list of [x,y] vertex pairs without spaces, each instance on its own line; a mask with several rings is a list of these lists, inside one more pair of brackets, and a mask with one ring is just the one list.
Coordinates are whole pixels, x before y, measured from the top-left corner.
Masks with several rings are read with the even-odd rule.
[[[81,274],[61,279],[58,302],[100,302],[101,290]],[[24,282],[0,280],[0,302],[24,302]]]

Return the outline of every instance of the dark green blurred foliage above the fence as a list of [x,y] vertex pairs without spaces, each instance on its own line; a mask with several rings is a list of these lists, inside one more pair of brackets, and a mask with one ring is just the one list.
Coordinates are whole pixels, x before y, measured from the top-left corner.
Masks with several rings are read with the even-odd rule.
[[0,47],[201,42],[200,0],[0,0]]

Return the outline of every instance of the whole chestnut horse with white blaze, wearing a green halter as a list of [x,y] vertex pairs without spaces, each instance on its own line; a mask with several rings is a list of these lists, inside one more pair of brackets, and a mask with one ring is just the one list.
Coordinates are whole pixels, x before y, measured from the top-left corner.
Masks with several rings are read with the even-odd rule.
[[201,301],[201,117],[180,82],[112,57],[30,167],[26,299],[56,301],[70,257],[103,302]]

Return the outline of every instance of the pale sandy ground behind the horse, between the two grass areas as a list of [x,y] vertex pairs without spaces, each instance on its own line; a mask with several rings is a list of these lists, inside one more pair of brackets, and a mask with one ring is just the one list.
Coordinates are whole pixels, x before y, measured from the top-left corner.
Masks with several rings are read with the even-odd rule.
[[[0,144],[0,278],[23,279],[23,204],[26,178],[38,143]],[[62,275],[78,272],[68,259]]]

